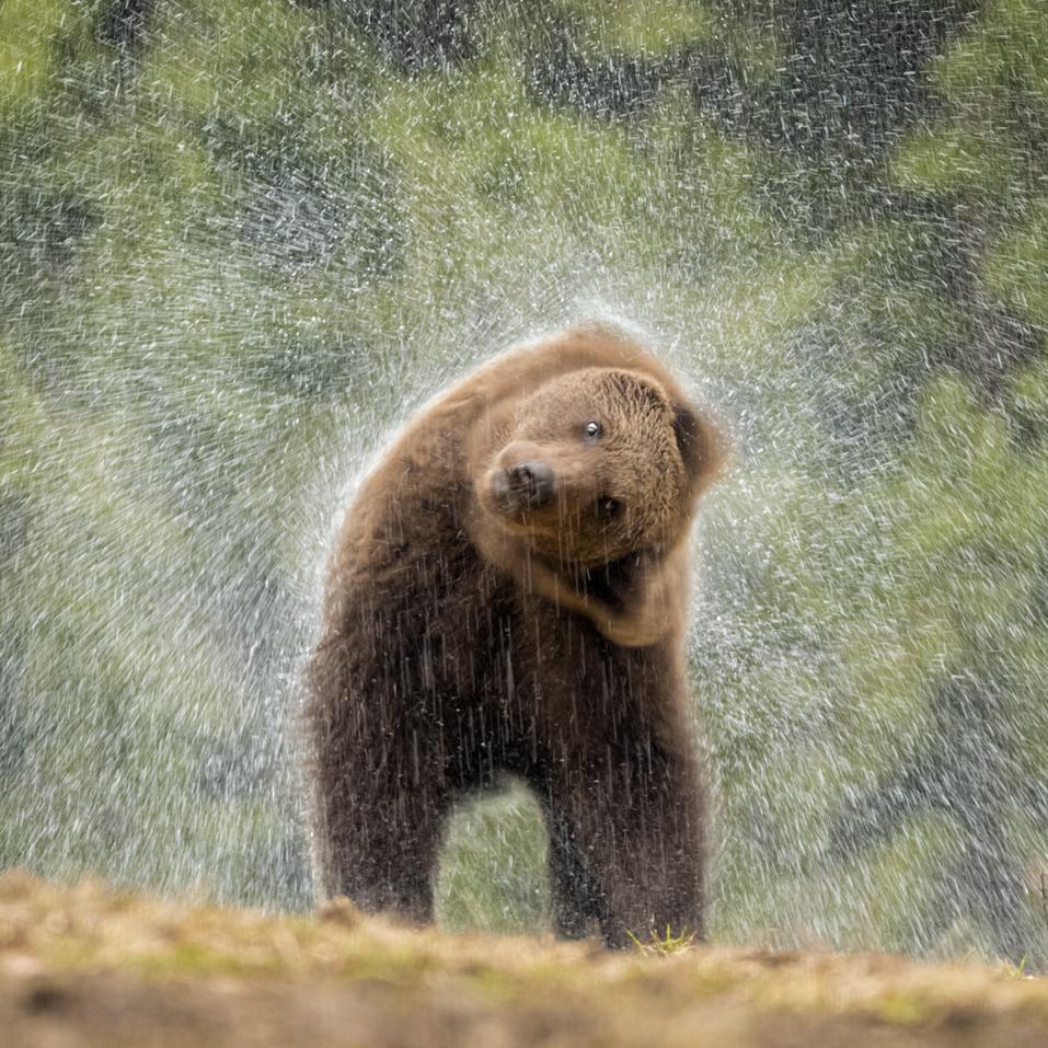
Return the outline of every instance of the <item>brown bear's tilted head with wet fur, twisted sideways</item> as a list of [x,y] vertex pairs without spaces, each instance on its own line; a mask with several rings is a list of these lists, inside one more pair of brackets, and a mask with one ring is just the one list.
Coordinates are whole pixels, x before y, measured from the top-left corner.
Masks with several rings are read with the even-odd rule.
[[474,479],[481,504],[564,564],[675,545],[717,470],[707,421],[650,376],[619,368],[550,379],[516,404],[499,436]]

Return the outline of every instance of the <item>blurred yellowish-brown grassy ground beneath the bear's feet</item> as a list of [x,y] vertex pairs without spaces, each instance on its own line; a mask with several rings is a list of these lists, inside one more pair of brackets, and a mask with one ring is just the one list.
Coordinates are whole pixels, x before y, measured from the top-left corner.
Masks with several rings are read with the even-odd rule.
[[0,877],[0,1044],[1048,1046],[1048,979],[882,955],[594,946]]

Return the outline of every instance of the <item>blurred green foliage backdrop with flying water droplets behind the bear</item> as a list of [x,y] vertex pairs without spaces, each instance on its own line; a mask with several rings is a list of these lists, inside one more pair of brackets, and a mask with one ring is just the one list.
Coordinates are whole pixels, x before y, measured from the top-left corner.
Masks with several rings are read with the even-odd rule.
[[[296,679],[381,435],[637,323],[722,405],[714,931],[1044,963],[1033,0],[8,0],[0,864],[309,898]],[[548,912],[520,793],[454,926]]]

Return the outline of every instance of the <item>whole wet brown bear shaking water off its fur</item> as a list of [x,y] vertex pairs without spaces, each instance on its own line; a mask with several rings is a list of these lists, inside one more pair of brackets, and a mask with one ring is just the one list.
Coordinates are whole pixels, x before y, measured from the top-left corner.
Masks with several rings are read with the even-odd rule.
[[599,327],[497,357],[407,425],[346,516],[309,666],[324,892],[429,920],[449,805],[508,772],[545,814],[560,934],[702,933],[684,630],[718,446]]

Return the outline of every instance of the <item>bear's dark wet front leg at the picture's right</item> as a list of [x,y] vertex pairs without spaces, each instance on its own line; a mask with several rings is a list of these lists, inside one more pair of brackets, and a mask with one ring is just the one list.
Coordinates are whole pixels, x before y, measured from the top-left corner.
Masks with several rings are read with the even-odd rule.
[[[579,755],[561,783],[558,803],[571,813],[575,855],[594,892],[591,901],[581,896],[581,912],[578,897],[558,905],[576,918],[591,906],[608,946],[663,938],[667,930],[703,934],[703,805],[688,745],[684,739],[680,748],[664,749],[645,739],[629,755],[611,746],[602,755]],[[554,890],[579,883],[558,885],[551,872]]]

